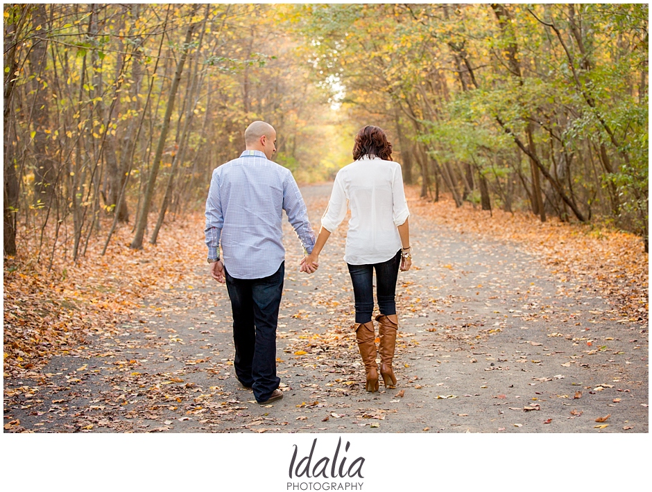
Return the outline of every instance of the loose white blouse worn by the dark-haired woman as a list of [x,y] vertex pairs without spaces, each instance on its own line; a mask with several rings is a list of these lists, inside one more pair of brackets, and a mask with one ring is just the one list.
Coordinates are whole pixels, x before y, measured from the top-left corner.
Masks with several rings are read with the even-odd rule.
[[369,265],[392,258],[402,246],[397,226],[410,216],[400,164],[364,156],[341,168],[322,227],[329,232],[337,229],[346,216],[347,202],[351,220],[344,261]]

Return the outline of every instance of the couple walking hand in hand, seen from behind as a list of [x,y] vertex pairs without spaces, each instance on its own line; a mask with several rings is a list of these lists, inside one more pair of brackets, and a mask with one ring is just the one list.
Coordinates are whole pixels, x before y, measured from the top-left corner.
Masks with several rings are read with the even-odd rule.
[[[347,204],[351,219],[344,260],[353,283],[357,343],[366,371],[366,389],[395,387],[392,360],[398,319],[395,291],[399,270],[409,270],[409,211],[401,167],[392,161],[392,146],[375,126],[355,137],[352,164],[336,175],[317,238],[306,205],[290,171],[271,161],[276,131],[255,121],[245,131],[246,150],[213,171],[206,200],[206,244],[211,275],[226,283],[233,314],[234,368],[256,401],[283,397],[276,375],[276,328],[285,273],[282,211],[304,247],[300,270],[319,267],[319,254],[341,224]],[[221,255],[220,255],[221,246]],[[380,346],[375,344],[373,272],[380,315]]]

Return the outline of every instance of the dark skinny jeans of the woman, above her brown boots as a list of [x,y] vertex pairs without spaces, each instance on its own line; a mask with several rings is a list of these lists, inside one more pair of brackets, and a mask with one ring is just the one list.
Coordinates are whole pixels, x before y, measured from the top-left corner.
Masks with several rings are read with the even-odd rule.
[[401,266],[400,250],[393,258],[374,265],[349,265],[355,298],[355,322],[368,323],[374,310],[374,270],[376,270],[376,297],[382,315],[396,314],[396,280]]

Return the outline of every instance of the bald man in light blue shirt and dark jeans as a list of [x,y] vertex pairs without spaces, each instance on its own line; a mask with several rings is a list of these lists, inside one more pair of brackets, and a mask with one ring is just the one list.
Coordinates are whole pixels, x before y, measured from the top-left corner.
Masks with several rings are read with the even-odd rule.
[[251,123],[245,143],[238,159],[213,171],[205,234],[211,275],[226,283],[231,299],[235,373],[262,405],[283,397],[276,376],[276,326],[285,272],[282,211],[304,253],[312,251],[315,234],[292,173],[271,161],[274,128],[263,121]]

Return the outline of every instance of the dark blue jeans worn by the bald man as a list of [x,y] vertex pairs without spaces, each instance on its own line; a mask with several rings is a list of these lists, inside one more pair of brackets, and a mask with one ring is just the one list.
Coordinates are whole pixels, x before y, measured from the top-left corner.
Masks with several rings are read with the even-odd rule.
[[235,279],[226,272],[233,312],[233,366],[257,401],[266,401],[281,382],[276,376],[276,326],[284,275],[285,262],[263,279]]

